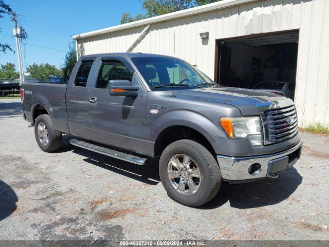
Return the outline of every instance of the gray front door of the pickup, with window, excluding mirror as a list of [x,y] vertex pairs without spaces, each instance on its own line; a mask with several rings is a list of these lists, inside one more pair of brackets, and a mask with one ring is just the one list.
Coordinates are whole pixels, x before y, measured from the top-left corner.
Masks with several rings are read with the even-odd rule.
[[[138,76],[122,59],[100,62],[97,78],[89,89],[90,137],[95,142],[145,153],[146,91]],[[137,97],[109,95],[109,80],[129,80],[140,85]]]

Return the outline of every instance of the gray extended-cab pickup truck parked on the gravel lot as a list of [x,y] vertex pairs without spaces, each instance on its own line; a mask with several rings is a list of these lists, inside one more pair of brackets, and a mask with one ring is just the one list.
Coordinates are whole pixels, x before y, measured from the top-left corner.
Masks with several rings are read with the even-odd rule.
[[67,84],[23,84],[22,108],[43,151],[69,134],[80,148],[153,161],[168,195],[188,206],[212,199],[222,180],[276,178],[302,148],[292,100],[223,87],[161,55],[83,56]]

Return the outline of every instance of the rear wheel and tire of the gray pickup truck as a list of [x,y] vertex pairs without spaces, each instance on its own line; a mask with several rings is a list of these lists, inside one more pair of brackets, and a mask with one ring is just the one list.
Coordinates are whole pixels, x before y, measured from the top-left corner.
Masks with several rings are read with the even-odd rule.
[[[45,127],[45,130],[43,127]],[[38,128],[40,130],[39,132]],[[39,135],[40,132],[42,132],[42,138]],[[38,143],[39,147],[45,152],[55,151],[62,145],[62,133],[53,129],[51,119],[47,114],[39,115],[35,119],[34,135],[36,143]]]

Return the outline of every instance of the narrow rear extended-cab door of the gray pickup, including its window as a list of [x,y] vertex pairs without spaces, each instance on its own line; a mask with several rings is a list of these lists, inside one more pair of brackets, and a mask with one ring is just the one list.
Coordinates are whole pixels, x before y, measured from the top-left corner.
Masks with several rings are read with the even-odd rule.
[[89,84],[93,77],[93,66],[95,58],[84,58],[72,79],[68,83],[66,91],[67,123],[70,134],[90,139],[88,128],[89,111]]

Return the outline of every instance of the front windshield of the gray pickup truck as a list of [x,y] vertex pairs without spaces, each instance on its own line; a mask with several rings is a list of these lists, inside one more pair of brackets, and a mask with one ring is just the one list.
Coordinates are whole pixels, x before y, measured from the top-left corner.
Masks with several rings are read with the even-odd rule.
[[192,65],[171,57],[132,58],[151,90],[168,90],[167,86],[192,89],[218,87],[209,77]]

